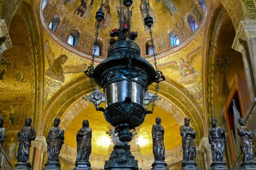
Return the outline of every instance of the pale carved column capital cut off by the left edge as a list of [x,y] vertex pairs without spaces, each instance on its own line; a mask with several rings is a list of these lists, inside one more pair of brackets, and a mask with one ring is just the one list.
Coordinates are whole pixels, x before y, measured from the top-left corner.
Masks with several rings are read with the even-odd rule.
[[11,47],[12,41],[9,36],[5,21],[3,19],[0,19],[0,63],[2,62],[3,52]]

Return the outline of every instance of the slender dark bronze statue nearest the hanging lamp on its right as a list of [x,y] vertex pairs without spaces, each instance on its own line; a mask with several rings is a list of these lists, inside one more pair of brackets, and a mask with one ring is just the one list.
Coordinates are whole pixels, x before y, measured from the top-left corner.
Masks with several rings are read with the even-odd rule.
[[164,128],[161,125],[161,118],[156,118],[156,124],[152,127],[153,139],[153,154],[155,161],[164,161],[165,148],[164,148]]

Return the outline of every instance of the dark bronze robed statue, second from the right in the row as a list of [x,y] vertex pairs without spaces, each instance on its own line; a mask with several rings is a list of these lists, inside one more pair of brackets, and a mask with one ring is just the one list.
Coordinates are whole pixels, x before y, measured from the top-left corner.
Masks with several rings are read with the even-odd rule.
[[217,126],[217,120],[212,118],[212,128],[209,130],[209,143],[213,150],[213,161],[223,162],[223,152],[225,149],[225,132]]

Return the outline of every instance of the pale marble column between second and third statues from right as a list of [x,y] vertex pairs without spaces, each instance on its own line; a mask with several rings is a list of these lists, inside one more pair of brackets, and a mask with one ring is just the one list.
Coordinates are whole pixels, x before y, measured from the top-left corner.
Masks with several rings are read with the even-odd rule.
[[210,169],[212,163],[212,148],[207,137],[203,137],[198,146],[199,150],[204,154],[205,169]]

